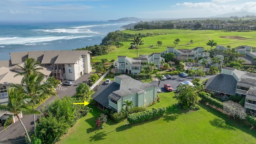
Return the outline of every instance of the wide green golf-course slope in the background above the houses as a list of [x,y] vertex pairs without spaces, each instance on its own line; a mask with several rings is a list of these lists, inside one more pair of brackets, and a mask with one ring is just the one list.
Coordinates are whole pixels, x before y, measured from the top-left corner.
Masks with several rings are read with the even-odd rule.
[[[256,32],[221,32],[220,30],[140,30],[140,31],[131,31],[124,30],[123,32],[131,33],[131,34],[146,34],[146,33],[159,33],[162,35],[159,36],[151,36],[142,38],[144,40],[144,45],[139,46],[138,54],[152,54],[152,52],[162,52],[166,50],[166,47],[174,47],[174,39],[179,38],[180,43],[176,46],[177,49],[187,48],[192,49],[197,46],[201,46],[204,48],[209,48],[206,43],[208,40],[215,40],[218,45],[227,46],[230,45],[231,48],[236,46],[248,45],[248,46],[256,46]],[[248,38],[246,40],[235,40],[232,38],[220,38],[220,36],[242,36]],[[160,40],[162,41],[162,46],[158,48],[156,46],[156,42]],[[194,41],[194,44],[190,46],[190,40]],[[109,52],[108,55],[96,56],[92,58],[92,61],[100,61],[102,58],[107,58],[108,60],[117,60],[117,56],[128,56],[130,58],[136,57],[136,50],[129,50],[131,42],[122,42],[124,44],[123,47],[117,48]],[[188,45],[187,45],[188,44]],[[150,48],[150,45],[154,47]],[[215,48],[215,47],[213,47]]]

